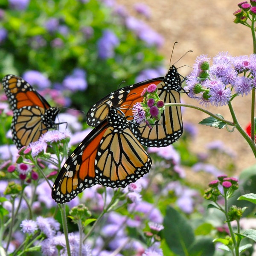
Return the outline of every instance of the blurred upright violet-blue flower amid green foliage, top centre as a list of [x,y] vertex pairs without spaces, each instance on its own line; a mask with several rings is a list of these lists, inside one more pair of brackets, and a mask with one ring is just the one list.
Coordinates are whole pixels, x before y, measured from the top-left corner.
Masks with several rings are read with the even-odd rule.
[[97,42],[98,56],[101,59],[113,58],[115,48],[120,44],[119,39],[109,29],[103,31],[103,35]]

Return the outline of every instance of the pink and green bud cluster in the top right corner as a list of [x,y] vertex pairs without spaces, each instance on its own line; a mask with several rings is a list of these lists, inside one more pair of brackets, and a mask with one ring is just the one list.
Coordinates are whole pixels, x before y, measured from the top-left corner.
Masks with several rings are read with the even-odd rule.
[[254,17],[256,15],[256,0],[250,0],[250,3],[243,1],[238,4],[239,8],[236,10],[233,15],[236,16],[234,23],[241,23],[246,25],[247,19],[250,18],[250,15]]

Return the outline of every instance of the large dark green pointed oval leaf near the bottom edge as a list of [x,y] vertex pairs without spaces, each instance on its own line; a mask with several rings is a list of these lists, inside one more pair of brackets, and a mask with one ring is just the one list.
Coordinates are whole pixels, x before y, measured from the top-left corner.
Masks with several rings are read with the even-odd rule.
[[163,225],[164,238],[169,248],[179,256],[189,255],[189,247],[195,241],[189,221],[174,208],[167,207]]

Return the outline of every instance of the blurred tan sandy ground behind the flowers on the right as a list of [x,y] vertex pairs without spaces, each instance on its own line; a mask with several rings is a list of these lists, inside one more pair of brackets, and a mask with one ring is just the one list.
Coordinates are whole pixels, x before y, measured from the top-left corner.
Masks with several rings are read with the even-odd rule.
[[[131,15],[134,12],[134,3],[137,0],[116,0],[117,3],[126,7]],[[233,12],[238,9],[234,0],[193,0],[193,1],[174,1],[174,0],[141,0],[140,3],[147,4],[151,9],[151,17],[144,19],[152,28],[159,32],[165,38],[165,44],[160,49],[166,56],[166,71],[169,67],[169,59],[172,53],[172,47],[175,41],[178,44],[172,56],[172,63],[176,62],[185,52],[192,50],[175,64],[179,73],[183,76],[192,71],[192,65],[195,58],[201,54],[207,54],[209,57],[215,56],[218,52],[228,51],[231,55],[250,55],[253,53],[252,37],[250,29],[241,24],[233,23]],[[190,67],[188,67],[190,66]],[[189,104],[198,105],[198,102],[189,99],[186,95],[182,96],[182,101]],[[238,97],[233,101],[233,107],[237,118],[243,127],[250,121],[250,96]],[[230,118],[227,107],[209,108],[213,113],[220,113],[225,119]],[[207,115],[186,108],[183,111],[183,121],[192,122],[198,128],[198,136],[193,144],[195,152],[205,150],[205,145],[214,140],[221,140],[227,148],[232,148],[236,153],[235,163],[240,172],[252,164],[255,164],[255,157],[241,137],[238,131],[227,132],[226,129],[198,125]]]

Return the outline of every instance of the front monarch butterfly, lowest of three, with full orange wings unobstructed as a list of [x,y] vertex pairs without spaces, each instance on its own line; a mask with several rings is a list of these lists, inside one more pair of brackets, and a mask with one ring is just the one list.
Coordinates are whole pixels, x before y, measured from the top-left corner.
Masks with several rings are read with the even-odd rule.
[[130,122],[111,107],[108,118],[85,137],[61,168],[52,198],[63,204],[95,184],[125,187],[149,172],[151,164]]

